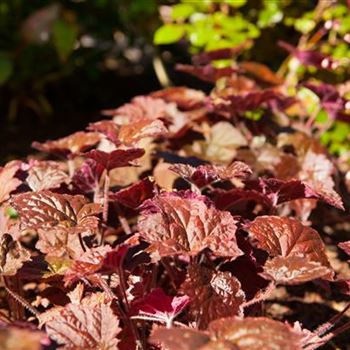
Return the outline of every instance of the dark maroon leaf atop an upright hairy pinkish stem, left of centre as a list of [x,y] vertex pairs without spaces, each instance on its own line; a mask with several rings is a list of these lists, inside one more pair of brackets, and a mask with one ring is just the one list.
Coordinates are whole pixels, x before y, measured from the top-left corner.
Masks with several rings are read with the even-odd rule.
[[94,149],[85,153],[85,156],[95,160],[110,171],[114,168],[130,166],[131,161],[142,157],[144,154],[145,150],[141,148],[117,149],[110,153]]

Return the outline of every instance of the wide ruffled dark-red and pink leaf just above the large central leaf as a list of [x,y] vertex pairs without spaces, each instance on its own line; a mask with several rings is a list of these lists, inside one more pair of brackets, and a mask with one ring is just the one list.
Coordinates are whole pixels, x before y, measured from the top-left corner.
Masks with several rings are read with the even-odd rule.
[[233,162],[227,167],[208,164],[200,165],[197,168],[188,164],[174,164],[170,167],[170,170],[194,183],[199,188],[220,180],[244,179],[252,173],[248,165],[242,162]]

